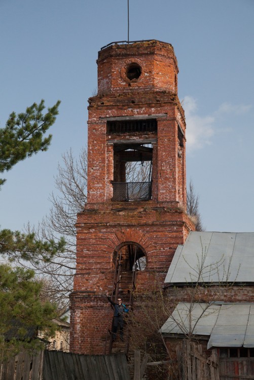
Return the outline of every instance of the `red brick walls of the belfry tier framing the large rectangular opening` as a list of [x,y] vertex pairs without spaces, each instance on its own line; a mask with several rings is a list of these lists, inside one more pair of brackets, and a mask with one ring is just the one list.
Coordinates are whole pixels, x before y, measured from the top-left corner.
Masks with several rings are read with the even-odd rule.
[[[178,139],[177,139],[177,114],[182,107],[178,99],[165,94],[157,94],[147,98],[146,94],[132,94],[136,103],[129,107],[123,107],[123,101],[118,98],[110,99],[110,106],[98,105],[98,99],[93,98],[89,106],[88,121],[88,205],[111,201],[113,180],[113,144],[112,140],[143,139],[148,142],[158,139],[154,143],[153,154],[153,199],[160,202],[179,202],[186,207],[186,172],[185,153],[183,151],[180,165],[178,165]],[[152,103],[157,99],[161,103]],[[110,98],[109,96],[106,97]],[[105,100],[105,99],[104,99]],[[147,101],[144,107],[142,101]],[[109,101],[108,101],[109,103]],[[106,135],[106,122],[101,118],[135,116],[135,115],[161,115],[167,113],[166,118],[158,118],[158,132],[139,133],[135,136]],[[185,131],[184,116],[182,117],[182,129]],[[184,150],[184,149],[183,149]],[[158,186],[156,189],[155,186]],[[158,197],[158,198],[157,198]],[[89,207],[89,206],[88,206]]]

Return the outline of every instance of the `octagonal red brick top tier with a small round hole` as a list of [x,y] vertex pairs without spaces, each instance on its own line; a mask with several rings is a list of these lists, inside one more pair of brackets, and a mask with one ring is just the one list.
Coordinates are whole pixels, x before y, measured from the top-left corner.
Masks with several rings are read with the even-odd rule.
[[[136,62],[141,66],[141,75],[130,81],[126,68]],[[159,41],[129,45],[111,45],[98,54],[98,94],[165,90],[177,93],[178,67],[174,49],[170,44]],[[176,81],[177,82],[177,81]]]

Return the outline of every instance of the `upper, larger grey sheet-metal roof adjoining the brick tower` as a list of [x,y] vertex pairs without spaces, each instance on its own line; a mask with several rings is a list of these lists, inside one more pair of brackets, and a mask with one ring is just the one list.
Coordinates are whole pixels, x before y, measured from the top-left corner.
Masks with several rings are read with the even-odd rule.
[[165,283],[254,282],[254,233],[190,232]]

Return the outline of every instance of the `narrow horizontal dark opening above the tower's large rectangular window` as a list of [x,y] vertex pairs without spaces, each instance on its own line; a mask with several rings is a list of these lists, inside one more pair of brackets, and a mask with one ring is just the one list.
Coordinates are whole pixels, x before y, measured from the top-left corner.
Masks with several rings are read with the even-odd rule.
[[157,120],[108,121],[106,132],[108,135],[134,132],[157,132]]

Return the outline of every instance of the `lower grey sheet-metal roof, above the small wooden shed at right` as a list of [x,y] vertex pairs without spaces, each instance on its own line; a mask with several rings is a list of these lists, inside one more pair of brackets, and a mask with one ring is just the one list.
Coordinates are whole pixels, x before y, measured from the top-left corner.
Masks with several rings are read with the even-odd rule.
[[254,303],[179,302],[161,328],[164,334],[210,335],[207,348],[254,347]]

